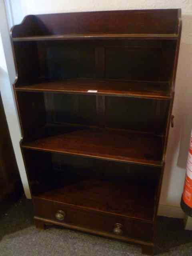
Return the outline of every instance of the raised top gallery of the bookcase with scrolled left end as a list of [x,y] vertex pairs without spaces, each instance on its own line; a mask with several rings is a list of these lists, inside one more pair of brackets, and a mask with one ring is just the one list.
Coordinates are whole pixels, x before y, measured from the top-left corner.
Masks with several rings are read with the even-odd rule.
[[[180,9],[28,15],[11,30],[14,41],[41,39],[177,38]],[[28,39],[27,39],[28,38]]]

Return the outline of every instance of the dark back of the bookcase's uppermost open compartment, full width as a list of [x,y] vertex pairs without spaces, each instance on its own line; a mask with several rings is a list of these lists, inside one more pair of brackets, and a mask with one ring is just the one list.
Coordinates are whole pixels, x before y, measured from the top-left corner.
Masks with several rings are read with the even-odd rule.
[[[16,87],[42,81],[66,82],[72,78],[169,84],[176,43],[174,40],[41,41],[14,42],[14,47],[18,52]],[[151,90],[156,88],[149,88]]]

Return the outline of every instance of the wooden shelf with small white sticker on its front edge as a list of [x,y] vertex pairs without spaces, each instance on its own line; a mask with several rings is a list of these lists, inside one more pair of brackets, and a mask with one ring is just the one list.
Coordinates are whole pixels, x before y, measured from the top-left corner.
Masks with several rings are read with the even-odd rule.
[[76,78],[58,82],[42,82],[31,85],[22,85],[16,87],[16,90],[170,99],[170,84],[168,82],[134,82],[126,80]]

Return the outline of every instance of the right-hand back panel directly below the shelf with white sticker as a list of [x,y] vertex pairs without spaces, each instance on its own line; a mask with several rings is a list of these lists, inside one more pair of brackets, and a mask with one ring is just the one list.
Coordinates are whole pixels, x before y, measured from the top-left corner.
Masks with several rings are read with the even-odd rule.
[[168,102],[106,97],[106,126],[163,134]]

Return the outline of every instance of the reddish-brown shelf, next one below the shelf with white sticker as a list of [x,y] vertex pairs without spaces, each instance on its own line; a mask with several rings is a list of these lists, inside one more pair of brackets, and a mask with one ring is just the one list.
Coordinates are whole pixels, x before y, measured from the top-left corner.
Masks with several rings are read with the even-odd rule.
[[[57,132],[54,126],[41,138],[22,142],[23,148],[86,156],[118,162],[162,166],[163,138],[124,130],[96,130],[73,127]],[[54,130],[55,129],[55,130]]]

